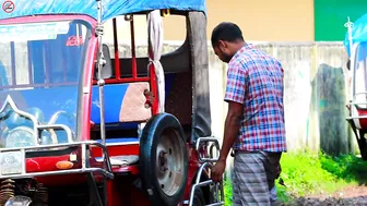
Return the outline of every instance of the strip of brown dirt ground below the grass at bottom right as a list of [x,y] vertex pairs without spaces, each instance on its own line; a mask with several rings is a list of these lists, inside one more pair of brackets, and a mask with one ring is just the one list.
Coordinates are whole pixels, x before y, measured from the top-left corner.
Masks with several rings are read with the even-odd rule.
[[336,205],[356,205],[367,206],[367,186],[351,186],[338,191],[332,195],[315,195],[300,197],[292,204],[280,204],[280,206],[336,206]]

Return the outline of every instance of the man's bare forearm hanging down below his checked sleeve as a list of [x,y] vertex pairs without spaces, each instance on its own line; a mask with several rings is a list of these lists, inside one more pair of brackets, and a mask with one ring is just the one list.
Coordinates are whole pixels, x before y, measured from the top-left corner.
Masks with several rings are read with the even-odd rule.
[[224,125],[224,137],[220,154],[220,161],[226,161],[228,153],[238,137],[241,118],[244,116],[244,105],[228,101],[228,112]]

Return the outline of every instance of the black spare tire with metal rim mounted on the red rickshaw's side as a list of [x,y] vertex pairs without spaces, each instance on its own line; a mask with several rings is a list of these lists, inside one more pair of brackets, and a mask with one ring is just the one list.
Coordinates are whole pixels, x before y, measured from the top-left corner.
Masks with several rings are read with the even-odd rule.
[[161,113],[146,123],[140,138],[139,160],[143,190],[152,204],[177,206],[188,179],[188,152],[183,130],[174,116]]

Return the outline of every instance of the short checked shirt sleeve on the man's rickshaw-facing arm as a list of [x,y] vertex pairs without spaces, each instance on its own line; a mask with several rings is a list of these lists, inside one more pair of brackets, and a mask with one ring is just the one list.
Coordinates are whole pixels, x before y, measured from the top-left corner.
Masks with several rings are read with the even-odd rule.
[[228,64],[227,85],[224,100],[244,104],[246,92],[245,68],[239,61]]

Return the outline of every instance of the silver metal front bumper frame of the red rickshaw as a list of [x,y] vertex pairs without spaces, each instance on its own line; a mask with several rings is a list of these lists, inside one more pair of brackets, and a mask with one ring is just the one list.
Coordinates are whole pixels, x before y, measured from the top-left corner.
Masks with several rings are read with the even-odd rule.
[[[58,147],[72,147],[72,146],[81,146],[82,147],[82,168],[81,169],[71,169],[71,170],[60,170],[60,171],[45,171],[45,172],[26,172],[26,161],[23,161],[23,172],[20,174],[1,174],[0,179],[20,179],[20,178],[33,178],[33,177],[45,177],[45,175],[55,175],[55,174],[72,174],[72,173],[87,173],[87,172],[98,172],[104,174],[108,179],[114,178],[113,167],[109,160],[109,155],[107,147],[96,141],[87,141],[87,142],[79,142],[79,143],[64,143],[57,145],[40,145],[40,146],[29,146],[29,147],[14,147],[14,148],[0,148],[0,154],[7,152],[21,152],[23,158],[25,159],[25,155],[27,152],[35,152],[40,149],[50,149]],[[104,158],[104,167],[103,168],[90,168],[88,163],[88,155],[87,155],[87,146],[97,146],[103,149],[103,158]]]

